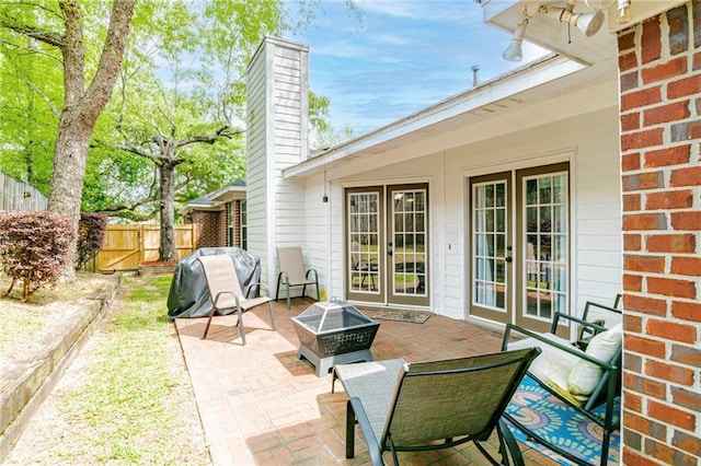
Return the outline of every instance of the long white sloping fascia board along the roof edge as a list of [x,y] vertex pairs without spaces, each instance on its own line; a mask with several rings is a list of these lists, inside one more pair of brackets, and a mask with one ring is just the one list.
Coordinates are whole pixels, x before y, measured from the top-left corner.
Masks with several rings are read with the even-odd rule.
[[446,98],[401,120],[390,124],[377,131],[353,139],[331,148],[327,152],[308,159],[285,170],[286,179],[306,177],[320,167],[337,162],[356,152],[372,148],[380,143],[416,131],[457,115],[475,110],[503,98],[527,91],[550,81],[563,78],[586,68],[582,63],[561,56],[549,56],[543,60],[530,63],[493,81]]

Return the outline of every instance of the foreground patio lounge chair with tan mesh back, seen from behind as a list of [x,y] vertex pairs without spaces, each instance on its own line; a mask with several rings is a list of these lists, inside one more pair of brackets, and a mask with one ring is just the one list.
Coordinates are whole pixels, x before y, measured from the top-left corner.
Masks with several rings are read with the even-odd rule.
[[[355,455],[355,423],[372,465],[382,452],[447,448],[473,442],[494,465],[524,464],[516,440],[501,420],[537,348],[471,358],[407,363],[403,359],[338,364],[333,381],[343,384],[346,405],[346,458]],[[333,386],[332,386],[333,391]],[[481,442],[496,431],[497,462]]]

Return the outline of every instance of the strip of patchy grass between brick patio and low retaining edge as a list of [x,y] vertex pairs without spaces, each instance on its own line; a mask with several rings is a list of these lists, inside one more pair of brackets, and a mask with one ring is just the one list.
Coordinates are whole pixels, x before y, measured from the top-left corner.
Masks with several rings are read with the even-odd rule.
[[100,330],[18,442],[13,464],[211,465],[166,315],[170,282],[124,278]]

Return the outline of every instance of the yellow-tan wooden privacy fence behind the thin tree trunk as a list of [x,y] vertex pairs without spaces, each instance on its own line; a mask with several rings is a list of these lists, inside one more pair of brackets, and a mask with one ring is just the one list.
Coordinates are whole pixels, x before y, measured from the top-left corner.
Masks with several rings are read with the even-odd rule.
[[[160,244],[161,226],[158,224],[107,225],[104,245],[97,254],[97,270],[138,270],[139,264],[158,260]],[[175,245],[179,259],[195,251],[194,224],[175,225]]]

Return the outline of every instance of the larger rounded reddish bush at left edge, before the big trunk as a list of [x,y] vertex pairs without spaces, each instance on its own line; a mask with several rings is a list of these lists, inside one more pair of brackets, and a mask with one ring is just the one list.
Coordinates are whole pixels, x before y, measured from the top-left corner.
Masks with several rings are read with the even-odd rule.
[[73,230],[57,212],[0,211],[0,264],[10,289],[22,280],[22,301],[46,284],[55,284],[67,265]]

